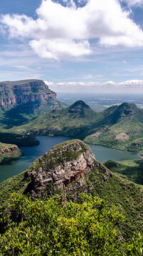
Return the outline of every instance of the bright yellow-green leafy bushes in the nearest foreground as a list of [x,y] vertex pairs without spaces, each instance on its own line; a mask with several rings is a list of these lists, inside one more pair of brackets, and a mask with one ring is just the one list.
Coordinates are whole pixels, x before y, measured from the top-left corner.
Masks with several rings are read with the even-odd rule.
[[123,216],[100,198],[82,200],[63,205],[56,196],[31,201],[14,193],[10,215],[1,219],[1,255],[121,255],[117,226]]

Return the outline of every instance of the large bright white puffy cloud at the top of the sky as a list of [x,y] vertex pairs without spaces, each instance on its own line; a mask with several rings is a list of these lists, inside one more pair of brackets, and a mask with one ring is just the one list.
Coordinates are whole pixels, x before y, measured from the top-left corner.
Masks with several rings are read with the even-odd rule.
[[[126,0],[125,0],[126,1]],[[139,0],[128,0],[131,3]],[[118,0],[42,0],[37,18],[26,15],[1,15],[3,29],[10,38],[29,40],[41,58],[59,60],[65,56],[89,55],[90,40],[102,46],[143,46],[142,29],[129,18]]]

